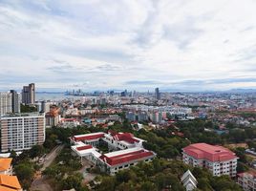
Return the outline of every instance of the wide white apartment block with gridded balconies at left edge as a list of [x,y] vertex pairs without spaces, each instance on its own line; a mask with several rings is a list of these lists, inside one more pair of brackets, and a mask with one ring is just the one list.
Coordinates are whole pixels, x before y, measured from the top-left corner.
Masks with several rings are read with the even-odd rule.
[[45,141],[44,113],[6,115],[0,125],[1,152],[26,150]]

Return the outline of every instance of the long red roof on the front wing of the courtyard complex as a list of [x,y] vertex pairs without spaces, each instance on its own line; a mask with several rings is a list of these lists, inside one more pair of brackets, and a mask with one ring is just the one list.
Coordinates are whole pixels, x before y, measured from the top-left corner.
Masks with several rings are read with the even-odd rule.
[[106,161],[109,165],[117,165],[120,163],[128,162],[131,160],[135,159],[143,159],[149,156],[153,156],[154,154],[150,151],[145,151],[145,150],[139,150],[139,151],[134,151],[131,153],[125,153],[121,155],[117,155],[114,157],[106,157],[105,155],[100,156],[100,159],[103,161]]

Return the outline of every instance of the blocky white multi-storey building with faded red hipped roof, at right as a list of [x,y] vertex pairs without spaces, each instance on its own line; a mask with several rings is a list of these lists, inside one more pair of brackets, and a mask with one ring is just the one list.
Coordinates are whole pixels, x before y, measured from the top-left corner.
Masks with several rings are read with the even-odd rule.
[[213,176],[236,176],[238,158],[235,153],[222,146],[196,143],[182,150],[182,160],[186,164],[207,168]]

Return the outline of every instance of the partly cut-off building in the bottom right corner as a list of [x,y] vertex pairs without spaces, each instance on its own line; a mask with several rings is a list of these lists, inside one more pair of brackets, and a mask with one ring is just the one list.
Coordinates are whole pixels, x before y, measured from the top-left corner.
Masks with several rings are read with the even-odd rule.
[[256,191],[256,173],[253,171],[238,174],[237,182],[245,191]]

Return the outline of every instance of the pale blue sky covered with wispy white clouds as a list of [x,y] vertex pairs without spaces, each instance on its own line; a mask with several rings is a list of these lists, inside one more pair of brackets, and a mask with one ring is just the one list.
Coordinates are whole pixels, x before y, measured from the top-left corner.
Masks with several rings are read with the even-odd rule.
[[0,90],[256,88],[255,0],[0,0]]

